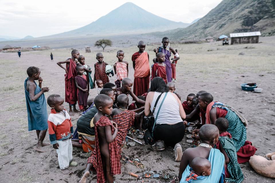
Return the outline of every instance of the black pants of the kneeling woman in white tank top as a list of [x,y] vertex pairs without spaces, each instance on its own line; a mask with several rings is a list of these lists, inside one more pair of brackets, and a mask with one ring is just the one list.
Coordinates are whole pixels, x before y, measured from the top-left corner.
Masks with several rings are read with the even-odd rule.
[[179,122],[173,125],[169,124],[156,124],[153,134],[154,140],[163,140],[167,147],[172,147],[179,143],[185,133],[185,126],[183,122]]

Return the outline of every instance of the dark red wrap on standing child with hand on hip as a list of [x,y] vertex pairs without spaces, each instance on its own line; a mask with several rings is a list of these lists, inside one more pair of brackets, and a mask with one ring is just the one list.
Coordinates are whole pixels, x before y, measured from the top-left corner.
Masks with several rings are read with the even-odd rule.
[[74,77],[77,75],[76,63],[70,59],[69,63],[66,63],[67,73],[65,74],[65,102],[70,105],[76,104],[77,93],[74,82]]

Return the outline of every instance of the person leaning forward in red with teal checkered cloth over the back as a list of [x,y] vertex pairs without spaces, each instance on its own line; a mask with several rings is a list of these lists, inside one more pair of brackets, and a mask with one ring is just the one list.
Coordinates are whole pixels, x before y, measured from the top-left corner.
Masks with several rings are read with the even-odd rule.
[[245,143],[246,129],[237,114],[224,104],[213,102],[213,96],[209,93],[199,96],[199,106],[201,109],[206,109],[206,124],[214,124],[217,118],[226,118],[228,120],[229,127],[227,132],[232,135],[233,143],[236,151],[238,151]]

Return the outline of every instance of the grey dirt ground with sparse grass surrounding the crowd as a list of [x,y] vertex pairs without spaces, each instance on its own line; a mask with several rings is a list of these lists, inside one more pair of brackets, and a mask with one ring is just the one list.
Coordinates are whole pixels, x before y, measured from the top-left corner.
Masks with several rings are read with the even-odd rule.
[[[145,40],[146,41],[146,40]],[[258,148],[257,155],[275,151],[274,116],[275,116],[275,37],[260,37],[261,43],[225,45],[221,42],[171,45],[177,48],[180,55],[176,67],[176,92],[181,95],[182,102],[190,93],[206,90],[214,96],[215,101],[223,102],[239,110],[248,120],[247,140]],[[157,45],[155,45],[157,46]],[[114,64],[116,51],[122,47],[107,48],[104,54],[105,62]],[[154,46],[146,47],[150,54],[150,63],[154,57]],[[129,77],[133,79],[131,55],[138,51],[136,46],[124,49],[125,61],[129,62]],[[17,53],[0,53],[0,104],[1,104],[1,136],[0,136],[0,182],[78,182],[82,176],[89,154],[74,149],[73,157],[78,166],[70,167],[70,176],[59,172],[56,150],[46,146],[47,152],[39,153],[33,150],[37,138],[34,131],[28,132],[28,120],[25,104],[23,82],[27,77],[26,69],[37,66],[41,70],[43,86],[50,91],[45,93],[60,94],[64,97],[64,74],[56,62],[70,57],[70,49],[23,52],[21,58]],[[50,61],[50,52],[54,61]],[[239,55],[239,53],[243,53]],[[95,52],[85,53],[86,63],[93,65]],[[7,70],[8,71],[7,71]],[[94,73],[94,71],[93,71]],[[110,79],[114,82],[115,77]],[[240,84],[256,82],[262,93],[245,92]],[[272,89],[273,88],[273,89]],[[97,89],[90,90],[89,97],[95,97]],[[65,104],[68,109],[68,104]],[[50,108],[48,107],[48,114]],[[76,128],[78,115],[72,116]],[[49,142],[49,136],[45,138]],[[181,142],[182,148],[192,145]],[[174,152],[166,148],[162,152],[153,151],[150,146],[135,145],[124,151],[128,156],[139,158],[145,168],[137,168],[129,163],[122,163],[122,174],[115,176],[116,182],[135,182],[127,174],[133,172],[142,174],[145,170],[170,170],[178,174],[179,162],[174,161]],[[275,179],[265,178],[257,174],[249,163],[241,164],[244,183],[275,182]],[[150,182],[169,182],[168,180],[149,179]],[[87,182],[96,182],[96,174],[92,173]]]

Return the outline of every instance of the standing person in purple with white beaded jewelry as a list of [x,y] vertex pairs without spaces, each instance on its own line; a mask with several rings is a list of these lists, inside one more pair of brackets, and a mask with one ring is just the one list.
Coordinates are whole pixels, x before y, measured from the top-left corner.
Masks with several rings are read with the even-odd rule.
[[165,54],[164,63],[166,64],[167,82],[172,82],[172,69],[171,69],[171,63],[170,63],[171,52],[176,57],[175,59],[172,60],[172,62],[177,61],[178,59],[180,59],[180,56],[178,55],[178,53],[176,53],[176,51],[172,47],[170,47],[168,37],[162,38],[161,46],[159,48],[155,48],[154,52],[156,52],[156,54],[159,53],[159,52],[162,52],[162,53]]

